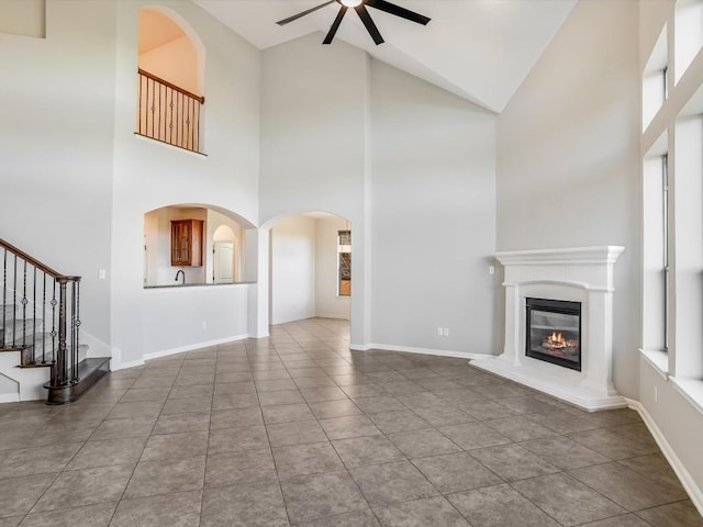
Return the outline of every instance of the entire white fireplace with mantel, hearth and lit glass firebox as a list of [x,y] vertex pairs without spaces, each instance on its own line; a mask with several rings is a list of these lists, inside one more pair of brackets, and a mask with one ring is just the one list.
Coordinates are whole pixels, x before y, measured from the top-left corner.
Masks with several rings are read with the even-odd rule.
[[624,250],[599,246],[495,255],[504,266],[503,352],[472,358],[471,365],[589,412],[626,407],[612,381],[614,268]]

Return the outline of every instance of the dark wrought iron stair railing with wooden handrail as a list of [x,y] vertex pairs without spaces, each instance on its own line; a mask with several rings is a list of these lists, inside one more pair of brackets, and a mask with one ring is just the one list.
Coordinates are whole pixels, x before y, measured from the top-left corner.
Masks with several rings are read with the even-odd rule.
[[79,381],[80,277],[66,276],[0,238],[0,351],[21,368],[51,368],[49,389]]

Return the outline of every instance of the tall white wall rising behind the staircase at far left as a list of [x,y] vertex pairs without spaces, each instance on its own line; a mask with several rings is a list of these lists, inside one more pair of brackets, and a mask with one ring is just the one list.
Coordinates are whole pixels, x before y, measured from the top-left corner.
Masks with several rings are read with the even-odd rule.
[[115,3],[47,2],[46,20],[46,38],[0,33],[0,237],[81,276],[81,329],[110,343]]

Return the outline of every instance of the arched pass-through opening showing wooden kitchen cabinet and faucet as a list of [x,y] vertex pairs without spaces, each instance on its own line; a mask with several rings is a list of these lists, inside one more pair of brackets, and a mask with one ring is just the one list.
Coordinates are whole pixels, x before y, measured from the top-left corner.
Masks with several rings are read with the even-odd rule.
[[252,227],[211,206],[168,205],[145,213],[144,287],[244,281],[244,232]]

